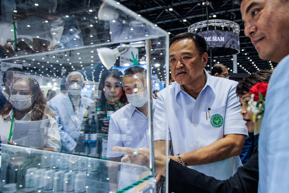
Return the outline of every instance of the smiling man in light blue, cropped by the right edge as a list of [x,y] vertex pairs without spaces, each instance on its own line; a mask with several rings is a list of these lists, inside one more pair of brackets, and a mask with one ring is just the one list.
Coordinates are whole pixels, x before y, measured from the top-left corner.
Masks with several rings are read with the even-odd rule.
[[289,1],[239,0],[246,36],[259,57],[278,62],[269,81],[259,135],[259,192],[289,192]]

